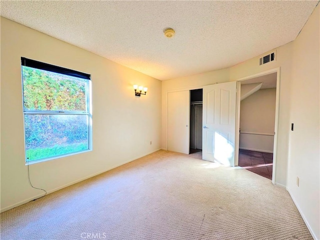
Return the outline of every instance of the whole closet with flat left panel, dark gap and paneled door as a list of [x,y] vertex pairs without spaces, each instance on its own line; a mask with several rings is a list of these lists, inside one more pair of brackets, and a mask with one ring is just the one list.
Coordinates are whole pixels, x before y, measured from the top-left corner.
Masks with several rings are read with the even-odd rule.
[[167,149],[234,166],[236,84],[167,93]]

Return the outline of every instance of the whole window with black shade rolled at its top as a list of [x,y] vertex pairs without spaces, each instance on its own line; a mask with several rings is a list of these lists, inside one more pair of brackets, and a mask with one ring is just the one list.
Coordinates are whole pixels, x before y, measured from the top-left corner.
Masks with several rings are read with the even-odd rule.
[[90,75],[21,57],[25,162],[91,150]]

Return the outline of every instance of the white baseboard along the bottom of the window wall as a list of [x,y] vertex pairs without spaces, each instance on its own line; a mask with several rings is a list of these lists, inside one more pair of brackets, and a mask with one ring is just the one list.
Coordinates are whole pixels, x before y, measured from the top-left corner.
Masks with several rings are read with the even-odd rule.
[[[115,166],[113,166],[113,167],[110,167],[110,168],[108,168],[108,169],[105,169],[105,170],[100,171],[100,172],[95,173],[95,174],[91,174],[91,175],[86,176],[86,177],[84,177],[84,178],[75,180],[75,181],[73,181],[73,182],[71,182],[71,183],[62,185],[62,186],[60,186],[60,187],[57,187],[57,188],[54,188],[54,189],[51,189],[51,190],[47,190],[46,193],[47,193],[47,194],[50,194],[50,193],[53,193],[53,192],[55,192],[55,191],[58,191],[58,190],[60,190],[60,189],[62,189],[62,188],[66,188],[66,187],[71,186],[71,185],[73,185],[73,184],[79,183],[79,182],[81,182],[81,181],[83,181],[83,180],[92,178],[92,177],[94,177],[94,176],[96,176],[96,175],[99,175],[99,174],[101,174],[101,173],[107,172],[107,171],[109,171],[109,170],[111,170],[111,169],[117,168],[117,167],[119,167],[119,166],[121,166],[121,165],[124,165],[124,164],[126,164],[126,163],[132,162],[132,161],[134,161],[134,160],[137,160],[137,159],[139,159],[139,158],[142,158],[142,157],[144,157],[144,156],[146,156],[146,155],[149,155],[149,154],[151,154],[151,153],[157,152],[157,151],[159,151],[160,149],[161,149],[161,148],[156,149],[156,150],[154,150],[154,151],[152,151],[152,152],[143,154],[143,155],[141,155],[141,156],[139,156],[139,157],[130,159],[130,160],[124,162],[124,163],[117,164],[117,165],[115,165]],[[16,204],[12,204],[12,205],[10,205],[10,206],[8,206],[8,207],[5,207],[5,208],[1,209],[1,210],[0,210],[0,213],[5,212],[5,211],[8,211],[8,210],[10,210],[10,209],[13,209],[13,208],[15,208],[15,207],[18,207],[18,206],[20,206],[20,205],[22,205],[22,204],[26,204],[26,203],[28,203],[28,202],[31,202],[31,201],[33,201],[33,200],[35,200],[35,199],[37,199],[37,198],[40,198],[41,196],[43,196],[43,193],[42,193],[42,194],[38,194],[38,195],[36,195],[36,196],[34,196],[34,197],[31,197],[31,198],[25,199],[25,200],[23,200],[23,201],[20,201],[20,202],[18,202],[18,203],[16,203]]]

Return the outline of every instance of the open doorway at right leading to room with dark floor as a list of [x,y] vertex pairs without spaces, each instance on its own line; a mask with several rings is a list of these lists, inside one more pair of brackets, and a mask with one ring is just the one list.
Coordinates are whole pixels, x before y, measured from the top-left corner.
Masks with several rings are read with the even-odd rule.
[[238,81],[238,166],[274,183],[279,69]]

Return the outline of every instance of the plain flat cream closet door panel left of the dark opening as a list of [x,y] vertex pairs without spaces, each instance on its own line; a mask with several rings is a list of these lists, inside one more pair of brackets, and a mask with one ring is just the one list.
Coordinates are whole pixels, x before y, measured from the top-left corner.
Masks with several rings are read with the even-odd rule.
[[189,154],[190,91],[168,92],[168,150]]

